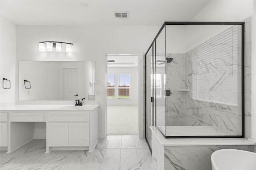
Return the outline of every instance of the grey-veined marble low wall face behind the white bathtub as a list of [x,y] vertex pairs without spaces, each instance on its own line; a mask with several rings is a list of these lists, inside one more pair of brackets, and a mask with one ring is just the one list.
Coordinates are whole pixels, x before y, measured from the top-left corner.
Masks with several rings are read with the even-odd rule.
[[210,170],[211,155],[219,149],[254,152],[254,146],[182,146],[164,148],[164,170]]

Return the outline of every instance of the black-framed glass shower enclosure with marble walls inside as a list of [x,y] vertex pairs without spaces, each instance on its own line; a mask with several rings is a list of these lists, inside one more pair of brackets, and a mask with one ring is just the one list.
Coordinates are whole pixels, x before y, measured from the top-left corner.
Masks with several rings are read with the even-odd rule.
[[244,22],[165,22],[145,54],[145,136],[244,137]]

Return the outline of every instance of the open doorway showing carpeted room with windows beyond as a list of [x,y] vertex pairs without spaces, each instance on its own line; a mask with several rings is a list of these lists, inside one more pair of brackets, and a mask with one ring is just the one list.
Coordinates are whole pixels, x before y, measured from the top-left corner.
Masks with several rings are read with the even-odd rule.
[[107,135],[138,135],[138,55],[106,55]]

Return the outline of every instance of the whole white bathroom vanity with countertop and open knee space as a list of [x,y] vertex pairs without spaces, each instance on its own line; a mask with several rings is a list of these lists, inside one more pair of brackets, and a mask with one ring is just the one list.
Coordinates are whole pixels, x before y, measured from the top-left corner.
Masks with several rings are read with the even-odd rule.
[[[46,128],[46,153],[51,150],[89,150],[98,141],[99,102],[86,102],[84,106],[24,104],[0,108],[0,149],[8,153],[34,139],[34,124],[41,122]],[[54,101],[55,102],[55,101]]]

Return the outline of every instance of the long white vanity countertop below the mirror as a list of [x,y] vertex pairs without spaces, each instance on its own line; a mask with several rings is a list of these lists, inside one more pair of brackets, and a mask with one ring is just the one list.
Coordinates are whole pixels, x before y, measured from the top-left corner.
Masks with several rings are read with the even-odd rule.
[[74,106],[74,105],[10,105],[3,106],[0,111],[90,111],[98,107],[98,104]]

